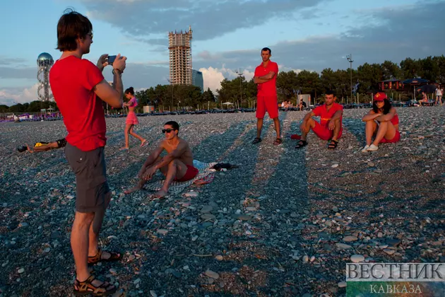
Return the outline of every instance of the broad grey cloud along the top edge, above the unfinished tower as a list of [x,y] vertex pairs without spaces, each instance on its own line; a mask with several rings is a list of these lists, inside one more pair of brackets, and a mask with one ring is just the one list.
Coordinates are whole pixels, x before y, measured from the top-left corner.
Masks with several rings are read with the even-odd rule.
[[167,34],[191,25],[192,30],[199,28],[195,40],[209,40],[276,18],[288,18],[299,9],[315,7],[326,0],[82,1],[90,18],[111,23],[133,36]]

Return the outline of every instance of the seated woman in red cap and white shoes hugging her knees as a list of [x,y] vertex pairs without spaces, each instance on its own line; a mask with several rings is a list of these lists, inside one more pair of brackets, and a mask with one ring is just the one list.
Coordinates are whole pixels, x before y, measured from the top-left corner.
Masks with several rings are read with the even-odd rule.
[[401,139],[396,107],[391,106],[385,93],[374,95],[372,110],[364,115],[362,121],[366,122],[366,145],[362,148],[362,152],[377,151],[379,144],[395,143]]

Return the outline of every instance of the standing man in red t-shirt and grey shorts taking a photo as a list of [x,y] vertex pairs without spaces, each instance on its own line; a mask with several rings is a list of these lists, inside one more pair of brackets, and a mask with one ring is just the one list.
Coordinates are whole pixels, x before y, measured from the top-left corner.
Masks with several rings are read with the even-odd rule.
[[82,59],[83,54],[90,52],[92,43],[93,25],[88,18],[66,11],[57,24],[57,49],[62,54],[49,72],[49,83],[64,116],[68,132],[65,155],[76,175],[76,215],[71,228],[76,296],[88,293],[106,296],[117,291],[106,281],[95,279],[88,271],[88,264],[121,257],[117,252],[100,250],[97,238],[111,198],[104,155],[107,126],[101,100],[112,107],[121,107],[121,74],[126,57],[118,55],[112,64],[113,88],[102,76],[102,70],[108,65],[108,54],[100,56],[97,66]]

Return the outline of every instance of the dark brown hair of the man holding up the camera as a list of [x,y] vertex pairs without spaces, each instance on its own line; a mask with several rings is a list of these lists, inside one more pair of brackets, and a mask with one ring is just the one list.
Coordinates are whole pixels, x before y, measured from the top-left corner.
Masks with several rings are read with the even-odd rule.
[[57,50],[61,52],[76,50],[76,40],[85,38],[92,31],[93,25],[86,16],[72,9],[66,9],[57,23]]

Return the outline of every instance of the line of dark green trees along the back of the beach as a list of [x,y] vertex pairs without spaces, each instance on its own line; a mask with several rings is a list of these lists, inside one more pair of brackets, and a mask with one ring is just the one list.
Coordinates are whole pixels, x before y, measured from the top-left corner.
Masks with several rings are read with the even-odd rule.
[[[430,82],[445,83],[445,57],[426,57],[425,59],[406,58],[400,64],[385,61],[381,64],[364,63],[357,69],[323,69],[321,72],[303,70],[280,71],[277,76],[278,100],[291,100],[296,103],[296,95],[310,94],[311,98],[322,101],[322,95],[327,89],[336,92],[340,100],[345,101],[352,91],[361,102],[369,101],[370,94],[379,90],[379,82],[388,79],[425,78]],[[388,88],[388,86],[386,86]],[[388,92],[402,99],[410,98],[412,89]],[[221,81],[221,87],[216,94],[208,88],[201,92],[197,86],[185,85],[160,85],[137,91],[136,98],[139,100],[138,111],[141,112],[143,105],[154,105],[160,110],[179,110],[184,108],[213,108],[223,107],[221,103],[230,102],[240,107],[251,107],[256,100],[256,84],[253,79],[247,81],[244,76],[238,76],[231,80],[225,78]],[[54,105],[54,104],[53,104]],[[41,108],[48,108],[47,103],[33,101],[31,103],[16,104],[8,107],[0,105],[0,112],[40,112]],[[55,107],[55,106],[52,106]],[[118,110],[119,111],[119,110]]]

